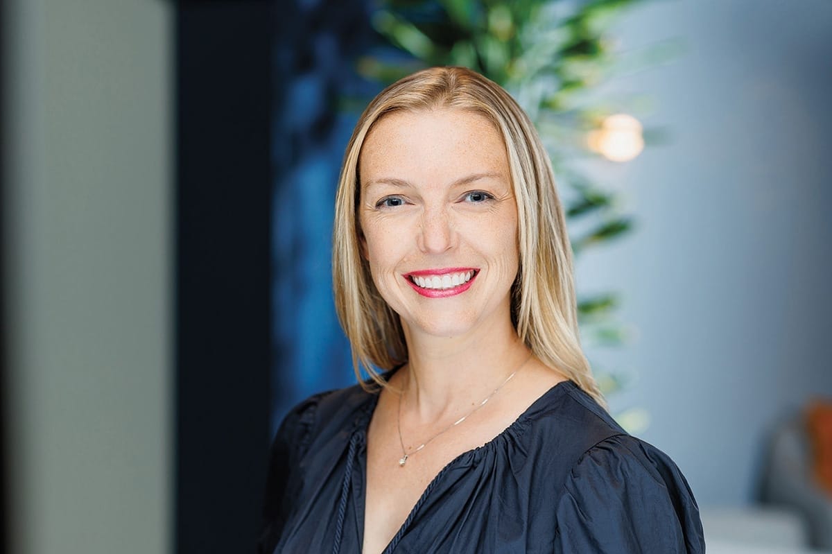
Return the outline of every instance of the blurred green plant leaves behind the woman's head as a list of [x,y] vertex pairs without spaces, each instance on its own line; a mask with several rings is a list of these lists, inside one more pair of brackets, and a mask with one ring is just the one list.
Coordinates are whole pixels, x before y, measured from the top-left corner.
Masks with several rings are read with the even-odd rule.
[[[572,247],[580,255],[634,225],[620,210],[614,189],[592,182],[577,162],[594,156],[587,132],[621,109],[592,100],[589,92],[617,67],[609,24],[639,1],[381,1],[373,26],[393,48],[362,57],[359,72],[386,84],[422,67],[464,66],[505,87],[547,146],[567,205]],[[652,51],[653,61],[656,52],[661,56]],[[626,340],[626,329],[615,318],[618,305],[614,293],[579,300],[587,343],[615,346]],[[605,393],[622,387],[617,373],[598,373]]]

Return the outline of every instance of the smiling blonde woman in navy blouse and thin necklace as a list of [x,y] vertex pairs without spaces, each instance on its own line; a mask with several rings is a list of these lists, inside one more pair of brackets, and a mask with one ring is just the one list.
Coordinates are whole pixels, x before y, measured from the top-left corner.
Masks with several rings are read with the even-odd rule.
[[570,252],[508,93],[458,67],[381,92],[334,229],[339,318],[372,380],[285,418],[260,552],[704,552],[681,472],[602,408]]

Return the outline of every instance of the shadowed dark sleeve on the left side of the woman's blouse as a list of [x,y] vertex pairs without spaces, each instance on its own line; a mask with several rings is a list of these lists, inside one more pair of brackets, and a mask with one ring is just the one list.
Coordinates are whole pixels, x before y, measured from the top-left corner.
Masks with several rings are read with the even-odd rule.
[[294,496],[291,489],[298,484],[298,480],[293,480],[291,474],[309,445],[315,412],[324,394],[315,395],[292,408],[275,434],[266,473],[258,554],[271,554],[283,530]]

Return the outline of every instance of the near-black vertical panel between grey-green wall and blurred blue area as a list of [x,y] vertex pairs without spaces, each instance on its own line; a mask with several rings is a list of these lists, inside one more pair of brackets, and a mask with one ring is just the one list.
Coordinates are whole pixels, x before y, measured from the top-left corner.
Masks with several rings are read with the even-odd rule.
[[176,18],[176,552],[254,552],[269,430],[270,2]]

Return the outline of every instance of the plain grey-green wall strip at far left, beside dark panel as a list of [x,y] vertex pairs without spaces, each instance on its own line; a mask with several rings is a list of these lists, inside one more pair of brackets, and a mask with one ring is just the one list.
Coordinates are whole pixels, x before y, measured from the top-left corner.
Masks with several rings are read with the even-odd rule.
[[172,4],[4,3],[12,552],[170,552]]

